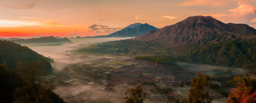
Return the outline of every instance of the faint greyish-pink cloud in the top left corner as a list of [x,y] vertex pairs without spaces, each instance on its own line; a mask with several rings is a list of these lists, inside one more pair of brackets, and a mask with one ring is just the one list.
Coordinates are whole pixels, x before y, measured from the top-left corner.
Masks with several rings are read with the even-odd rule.
[[24,2],[23,0],[11,0],[12,2],[6,4],[4,7],[9,9],[30,9],[35,7],[33,1]]

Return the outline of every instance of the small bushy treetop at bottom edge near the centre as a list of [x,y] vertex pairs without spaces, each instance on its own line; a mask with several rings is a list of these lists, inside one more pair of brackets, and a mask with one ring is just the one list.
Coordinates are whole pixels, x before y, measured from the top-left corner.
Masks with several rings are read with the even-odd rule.
[[142,88],[136,86],[135,88],[129,88],[125,92],[125,95],[129,95],[125,97],[125,99],[127,99],[126,103],[143,103],[146,93],[142,93]]

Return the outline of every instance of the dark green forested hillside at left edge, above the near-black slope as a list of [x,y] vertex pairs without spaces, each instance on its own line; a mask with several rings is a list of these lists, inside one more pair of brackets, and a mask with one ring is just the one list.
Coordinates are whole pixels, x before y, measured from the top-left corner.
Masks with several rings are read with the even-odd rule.
[[11,41],[0,40],[0,64],[5,64],[7,69],[18,70],[27,65],[35,65],[35,71],[52,72],[50,58],[44,57],[26,46],[21,46]]

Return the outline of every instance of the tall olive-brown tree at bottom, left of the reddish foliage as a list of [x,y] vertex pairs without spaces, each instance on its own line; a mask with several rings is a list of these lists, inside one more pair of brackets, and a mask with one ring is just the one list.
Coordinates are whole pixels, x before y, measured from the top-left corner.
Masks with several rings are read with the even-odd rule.
[[209,95],[210,85],[208,83],[209,77],[201,73],[197,73],[197,77],[192,79],[192,83],[188,95],[188,103],[211,103]]

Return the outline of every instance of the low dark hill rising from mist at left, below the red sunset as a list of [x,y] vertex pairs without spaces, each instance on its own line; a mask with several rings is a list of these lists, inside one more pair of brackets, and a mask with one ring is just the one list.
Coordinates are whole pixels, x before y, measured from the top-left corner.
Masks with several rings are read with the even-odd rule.
[[29,38],[29,39],[19,39],[14,40],[13,42],[18,44],[54,44],[54,45],[60,45],[63,43],[72,43],[68,38],[55,38],[53,36],[49,37],[39,37],[39,38]]

